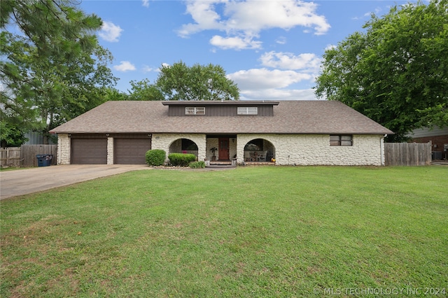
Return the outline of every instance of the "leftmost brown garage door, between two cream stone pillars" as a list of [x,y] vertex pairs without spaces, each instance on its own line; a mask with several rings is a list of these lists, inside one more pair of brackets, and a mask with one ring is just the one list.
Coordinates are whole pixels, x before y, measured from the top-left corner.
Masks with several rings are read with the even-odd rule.
[[71,164],[107,164],[107,139],[71,139]]

